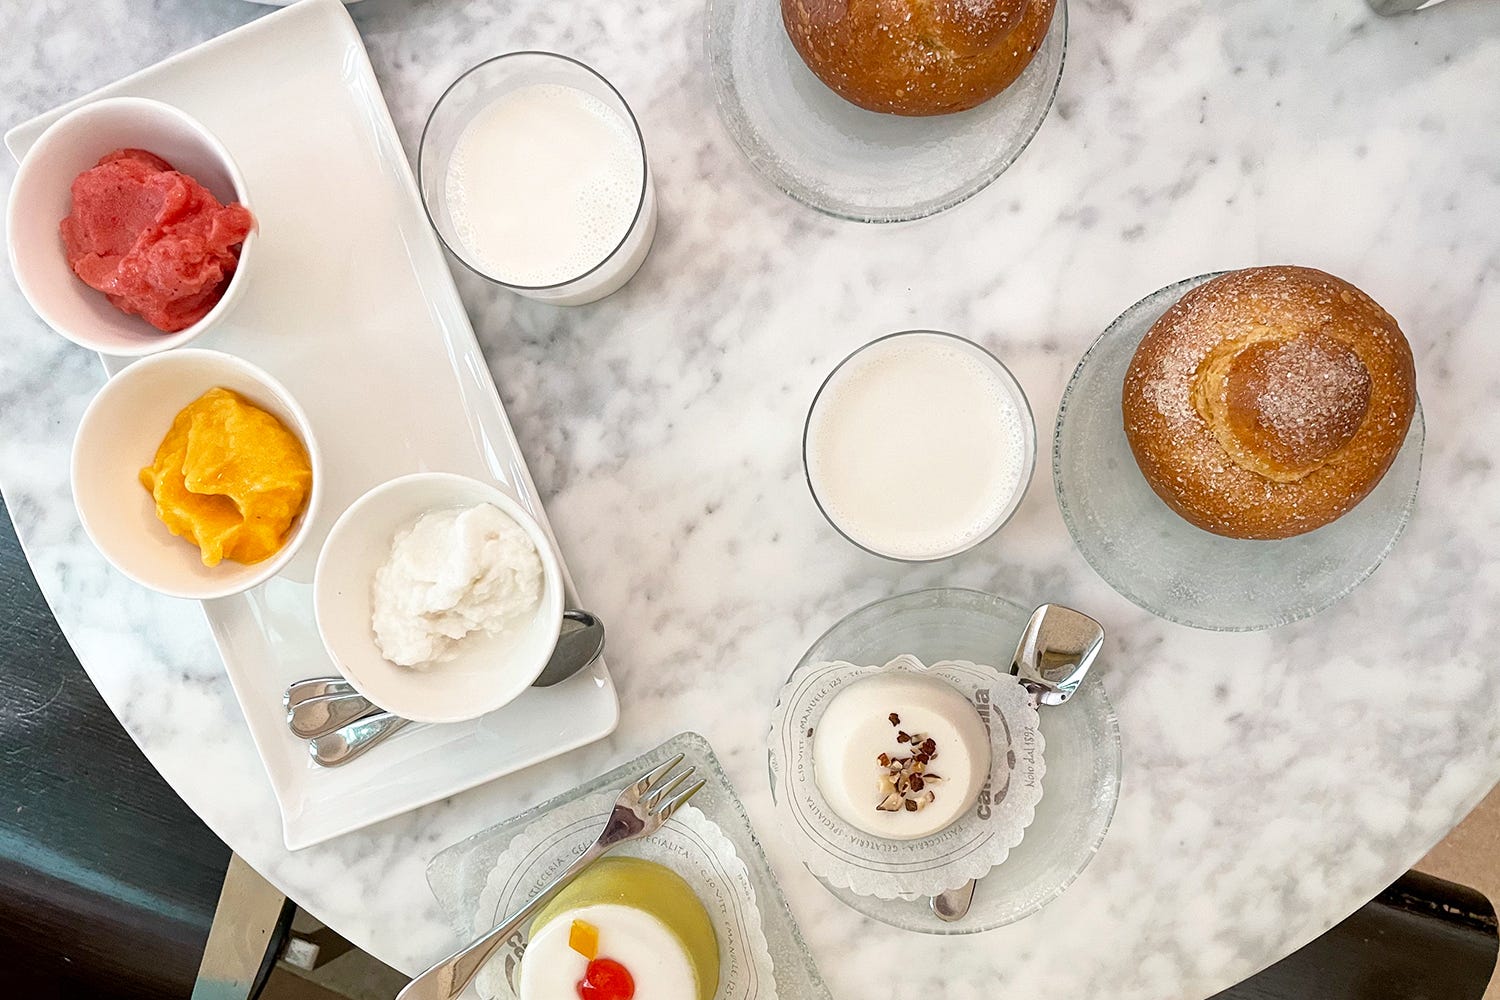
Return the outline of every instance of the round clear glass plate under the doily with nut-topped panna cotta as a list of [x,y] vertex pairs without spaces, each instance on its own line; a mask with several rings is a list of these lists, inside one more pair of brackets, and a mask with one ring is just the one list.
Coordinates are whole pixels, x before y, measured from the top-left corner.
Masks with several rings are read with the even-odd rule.
[[[796,669],[830,660],[886,663],[909,652],[924,663],[972,660],[1005,670],[1030,612],[978,591],[914,591],[843,618],[808,648]],[[864,916],[926,934],[990,931],[1062,895],[1098,853],[1119,799],[1119,723],[1100,682],[1108,669],[1106,657],[1071,702],[1042,706],[1047,775],[1036,816],[1005,862],[978,882],[966,918],[945,924],[927,900],[878,900],[828,883],[824,888]],[[778,795],[774,775],[771,795]]]

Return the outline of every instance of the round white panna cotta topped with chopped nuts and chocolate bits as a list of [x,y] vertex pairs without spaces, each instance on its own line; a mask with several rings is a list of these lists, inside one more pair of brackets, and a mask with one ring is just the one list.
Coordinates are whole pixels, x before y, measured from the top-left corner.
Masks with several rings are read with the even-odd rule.
[[963,694],[904,672],[855,681],[813,733],[830,808],[886,840],[930,837],[968,813],[990,772],[990,738]]

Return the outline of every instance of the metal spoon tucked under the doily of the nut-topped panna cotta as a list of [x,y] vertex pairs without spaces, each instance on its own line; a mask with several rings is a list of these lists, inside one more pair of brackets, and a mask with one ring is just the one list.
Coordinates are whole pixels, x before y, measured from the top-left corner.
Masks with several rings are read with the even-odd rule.
[[[1062,705],[1071,699],[1104,646],[1104,627],[1062,604],[1032,612],[1011,657],[1011,676],[1020,678],[1032,706]],[[974,903],[974,882],[934,895],[928,906],[946,924],[962,921]]]

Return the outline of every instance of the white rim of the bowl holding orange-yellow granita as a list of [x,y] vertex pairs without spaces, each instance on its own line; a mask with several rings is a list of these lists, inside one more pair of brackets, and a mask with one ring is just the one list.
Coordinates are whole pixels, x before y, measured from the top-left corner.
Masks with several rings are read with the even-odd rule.
[[[90,522],[90,516],[86,511],[86,505],[81,504],[78,499],[78,472],[81,468],[80,465],[81,459],[78,451],[80,451],[80,442],[84,439],[84,435],[90,432],[92,426],[99,420],[99,414],[104,411],[104,408],[110,403],[110,400],[114,396],[124,391],[123,388],[120,388],[122,385],[126,385],[132,378],[141,378],[142,372],[150,373],[159,367],[186,366],[196,361],[225,364],[226,367],[238,370],[242,375],[246,375],[252,381],[262,385],[266,391],[270,396],[273,396],[276,402],[291,414],[296,427],[291,427],[290,430],[292,430],[297,435],[297,438],[302,441],[303,448],[306,448],[308,451],[308,462],[312,466],[312,487],[308,490],[308,502],[303,507],[302,514],[298,514],[297,523],[292,526],[291,534],[282,543],[282,547],[276,552],[276,555],[270,556],[268,559],[249,564],[255,567],[254,573],[248,574],[242,580],[236,580],[232,583],[225,583],[220,586],[182,588],[148,579],[147,574],[138,573],[136,570],[123,565],[110,552],[108,546],[105,546],[100,541],[100,535],[98,534],[94,525]],[[292,396],[291,391],[285,385],[282,385],[274,376],[272,376],[270,372],[260,367],[258,364],[246,361],[244,358],[234,354],[226,354],[224,351],[208,351],[206,348],[186,348],[182,351],[171,351],[165,354],[154,354],[150,357],[144,357],[138,361],[130,363],[118,373],[112,375],[99,388],[99,391],[94,393],[94,397],[88,400],[88,406],[84,408],[82,417],[80,417],[78,420],[78,430],[74,432],[72,454],[69,456],[68,462],[68,475],[69,475],[69,490],[74,499],[74,510],[76,511],[78,520],[84,528],[84,534],[88,535],[88,541],[93,543],[93,547],[99,552],[99,555],[105,558],[106,562],[110,562],[110,565],[112,565],[126,579],[134,580],[135,583],[140,583],[141,586],[150,591],[156,591],[158,594],[165,594],[166,597],[180,597],[196,601],[212,601],[220,597],[232,597],[236,594],[243,594],[244,591],[256,588],[261,583],[274,577],[278,573],[280,573],[286,567],[286,564],[291,562],[292,556],[297,555],[297,552],[306,541],[309,534],[308,529],[314,522],[314,519],[316,517],[318,508],[321,507],[322,502],[322,451],[318,447],[318,439],[312,430],[312,423],[308,420],[308,414],[306,411],[303,411],[302,403],[297,402],[297,397]],[[182,543],[192,544],[186,538],[182,540]]]

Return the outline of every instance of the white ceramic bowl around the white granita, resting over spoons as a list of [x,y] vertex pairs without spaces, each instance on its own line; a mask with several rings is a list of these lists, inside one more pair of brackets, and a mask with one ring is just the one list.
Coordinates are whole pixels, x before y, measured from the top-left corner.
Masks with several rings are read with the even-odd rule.
[[[459,655],[426,670],[398,667],[370,631],[375,571],[398,531],[430,510],[494,504],[542,556],[542,604],[519,636],[471,634]],[[312,583],[318,633],[339,673],[381,708],[418,723],[460,723],[510,703],[548,666],[562,625],[562,573],[536,519],[498,486],[452,472],[417,472],[382,483],[334,522]]]

